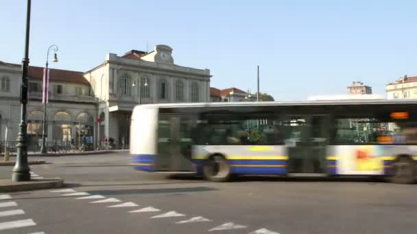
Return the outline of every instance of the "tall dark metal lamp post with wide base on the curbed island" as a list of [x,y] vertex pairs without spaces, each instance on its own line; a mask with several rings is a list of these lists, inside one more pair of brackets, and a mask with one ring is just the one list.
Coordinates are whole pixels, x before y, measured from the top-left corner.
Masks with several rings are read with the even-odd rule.
[[30,7],[31,0],[27,0],[25,57],[22,60],[21,84],[21,122],[16,144],[16,164],[12,170],[12,181],[30,181],[29,165],[27,164],[27,129],[26,129],[26,103],[27,103],[27,73],[29,69],[29,34],[30,34]]

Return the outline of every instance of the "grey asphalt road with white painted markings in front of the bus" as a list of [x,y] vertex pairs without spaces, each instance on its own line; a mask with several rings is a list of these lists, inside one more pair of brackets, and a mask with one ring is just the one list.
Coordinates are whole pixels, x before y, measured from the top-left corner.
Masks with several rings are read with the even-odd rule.
[[[69,187],[61,192],[0,193],[0,232],[403,234],[417,230],[417,185],[272,177],[211,183],[188,175],[134,171],[128,166],[129,157],[127,153],[47,157],[51,164],[31,166],[37,176],[61,177]],[[10,177],[10,170],[0,167],[0,179]],[[73,196],[64,196],[68,194]],[[5,227],[10,229],[1,230]]]

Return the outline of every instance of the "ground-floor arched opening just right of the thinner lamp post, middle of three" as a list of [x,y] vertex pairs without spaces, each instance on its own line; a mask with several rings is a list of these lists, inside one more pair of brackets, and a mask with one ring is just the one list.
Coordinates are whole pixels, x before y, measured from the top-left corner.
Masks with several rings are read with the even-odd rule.
[[56,112],[53,123],[53,140],[71,141],[71,116],[67,112]]

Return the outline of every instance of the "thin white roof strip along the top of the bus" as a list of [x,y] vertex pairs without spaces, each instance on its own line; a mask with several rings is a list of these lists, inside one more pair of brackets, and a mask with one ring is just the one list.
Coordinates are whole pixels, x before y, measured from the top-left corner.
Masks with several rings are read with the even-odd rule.
[[308,106],[308,105],[395,105],[417,104],[417,99],[365,99],[365,100],[322,100],[322,101],[251,101],[215,103],[158,103],[144,104],[141,107],[187,108],[187,107],[252,107],[252,106]]

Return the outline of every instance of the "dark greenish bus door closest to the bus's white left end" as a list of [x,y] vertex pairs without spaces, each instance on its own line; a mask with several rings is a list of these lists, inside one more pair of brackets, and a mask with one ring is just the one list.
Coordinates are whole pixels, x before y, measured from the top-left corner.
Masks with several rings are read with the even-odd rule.
[[160,115],[158,120],[158,155],[156,171],[192,171],[191,121],[181,116]]

